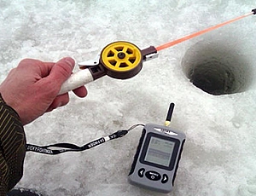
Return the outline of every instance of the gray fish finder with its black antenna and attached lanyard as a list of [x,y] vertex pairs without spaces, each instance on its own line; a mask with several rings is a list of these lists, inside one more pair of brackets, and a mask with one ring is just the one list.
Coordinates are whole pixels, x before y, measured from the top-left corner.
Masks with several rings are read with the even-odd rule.
[[[143,126],[142,136],[131,164],[128,181],[138,187],[169,193],[172,191],[186,137],[182,131],[168,127],[171,122],[173,107],[174,103],[171,103],[166,117],[166,126],[134,124],[128,130],[118,130],[111,135],[90,141],[82,147],[71,143],[56,143],[43,147],[26,144],[26,151],[50,155],[81,152],[106,141],[123,137],[137,126]],[[51,149],[52,147],[54,149]],[[59,147],[62,147],[62,149],[58,149]]]

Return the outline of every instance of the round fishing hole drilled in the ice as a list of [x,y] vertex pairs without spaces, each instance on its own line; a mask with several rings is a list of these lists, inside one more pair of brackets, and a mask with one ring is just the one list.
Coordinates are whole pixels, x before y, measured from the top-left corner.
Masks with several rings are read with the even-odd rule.
[[242,51],[227,42],[196,43],[183,56],[182,67],[191,83],[211,95],[243,92],[252,78]]

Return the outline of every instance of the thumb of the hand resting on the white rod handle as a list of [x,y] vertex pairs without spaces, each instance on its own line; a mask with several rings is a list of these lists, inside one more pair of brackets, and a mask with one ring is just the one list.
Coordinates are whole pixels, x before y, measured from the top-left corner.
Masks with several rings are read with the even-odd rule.
[[55,81],[57,86],[61,86],[61,84],[70,77],[74,64],[75,61],[70,57],[63,58],[55,63],[49,73],[49,76],[53,81]]

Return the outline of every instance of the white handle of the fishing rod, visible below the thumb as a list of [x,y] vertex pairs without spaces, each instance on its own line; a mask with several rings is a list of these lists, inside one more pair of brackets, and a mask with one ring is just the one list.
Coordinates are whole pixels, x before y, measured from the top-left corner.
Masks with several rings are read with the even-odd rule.
[[74,72],[67,80],[62,84],[61,90],[58,95],[67,93],[70,90],[77,89],[84,84],[92,82],[94,79],[88,69]]

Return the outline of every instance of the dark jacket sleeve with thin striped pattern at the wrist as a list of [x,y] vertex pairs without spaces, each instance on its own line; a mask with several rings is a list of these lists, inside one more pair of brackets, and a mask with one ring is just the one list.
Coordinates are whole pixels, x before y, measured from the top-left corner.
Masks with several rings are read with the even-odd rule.
[[20,181],[26,153],[26,136],[20,117],[0,94],[0,195]]

